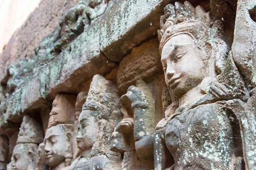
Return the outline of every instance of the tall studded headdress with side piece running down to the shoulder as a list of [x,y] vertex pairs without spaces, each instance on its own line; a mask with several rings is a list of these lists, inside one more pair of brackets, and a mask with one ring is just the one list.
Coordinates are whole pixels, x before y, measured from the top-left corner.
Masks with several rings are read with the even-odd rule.
[[91,150],[92,156],[116,154],[110,150],[110,145],[115,126],[116,110],[118,109],[118,99],[116,85],[113,82],[98,74],[93,77],[88,97],[83,105],[83,110],[94,111],[94,117],[99,125],[99,135]]

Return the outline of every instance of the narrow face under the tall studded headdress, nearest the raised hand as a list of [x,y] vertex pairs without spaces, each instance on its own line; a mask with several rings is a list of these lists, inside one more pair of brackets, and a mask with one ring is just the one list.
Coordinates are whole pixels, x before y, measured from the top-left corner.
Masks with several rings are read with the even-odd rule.
[[94,117],[94,111],[89,109],[82,111],[78,120],[76,142],[77,147],[83,151],[93,146],[99,133],[99,125]]

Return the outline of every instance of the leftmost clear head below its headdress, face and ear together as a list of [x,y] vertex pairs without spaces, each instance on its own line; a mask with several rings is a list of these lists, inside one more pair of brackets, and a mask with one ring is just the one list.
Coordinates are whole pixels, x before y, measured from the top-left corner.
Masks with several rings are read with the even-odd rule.
[[[35,168],[37,144],[17,144],[12,153],[12,169],[27,170]],[[29,169],[30,169],[29,168]]]

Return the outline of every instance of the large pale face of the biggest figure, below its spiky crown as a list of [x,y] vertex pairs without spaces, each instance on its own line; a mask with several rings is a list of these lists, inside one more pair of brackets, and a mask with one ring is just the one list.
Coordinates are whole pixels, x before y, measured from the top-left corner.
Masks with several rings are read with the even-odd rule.
[[163,46],[161,62],[166,85],[179,98],[208,77],[207,53],[188,34],[178,34]]

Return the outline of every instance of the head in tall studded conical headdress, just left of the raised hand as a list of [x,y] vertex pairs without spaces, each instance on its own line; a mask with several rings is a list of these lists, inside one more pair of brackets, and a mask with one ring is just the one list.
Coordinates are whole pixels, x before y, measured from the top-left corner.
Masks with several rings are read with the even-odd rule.
[[[79,116],[76,139],[77,146],[80,150],[93,147],[96,140],[100,139],[101,134],[105,136],[105,139],[102,140],[110,140],[109,138],[111,138],[112,132],[111,129],[108,129],[110,127],[106,126],[111,124],[112,120],[115,119],[112,117],[112,112],[116,109],[117,101],[116,86],[104,77],[95,75],[90,84],[88,97]],[[105,142],[105,144],[107,143],[110,142]]]

